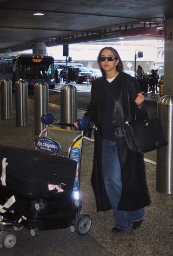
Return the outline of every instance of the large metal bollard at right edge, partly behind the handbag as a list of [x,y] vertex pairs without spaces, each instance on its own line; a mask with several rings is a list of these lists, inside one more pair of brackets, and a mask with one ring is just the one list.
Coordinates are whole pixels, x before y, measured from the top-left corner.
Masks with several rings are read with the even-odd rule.
[[173,194],[173,96],[165,95],[157,102],[157,117],[162,121],[168,145],[157,149],[156,191]]

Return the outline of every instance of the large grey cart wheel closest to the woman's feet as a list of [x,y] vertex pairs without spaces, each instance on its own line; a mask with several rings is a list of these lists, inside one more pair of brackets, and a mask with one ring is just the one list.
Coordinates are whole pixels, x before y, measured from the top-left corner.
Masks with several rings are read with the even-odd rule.
[[80,235],[85,235],[89,232],[92,225],[92,221],[89,215],[80,215],[77,220],[77,231]]

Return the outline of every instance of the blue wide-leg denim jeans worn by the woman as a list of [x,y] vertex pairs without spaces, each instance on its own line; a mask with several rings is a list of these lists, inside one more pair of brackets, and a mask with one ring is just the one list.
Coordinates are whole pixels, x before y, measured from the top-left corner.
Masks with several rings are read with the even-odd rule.
[[114,210],[115,227],[129,229],[134,222],[143,219],[145,209],[134,211],[117,210],[122,193],[121,167],[117,153],[117,145],[112,140],[102,140],[102,167],[105,190]]

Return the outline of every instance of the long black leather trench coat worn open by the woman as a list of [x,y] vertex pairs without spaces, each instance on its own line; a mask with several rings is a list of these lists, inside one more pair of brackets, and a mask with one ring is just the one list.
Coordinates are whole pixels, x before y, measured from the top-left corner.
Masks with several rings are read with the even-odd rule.
[[[121,84],[114,95],[114,109],[112,121],[114,124],[115,138],[122,175],[122,195],[118,204],[118,210],[137,210],[150,203],[147,183],[145,180],[145,165],[143,154],[132,154],[125,143],[122,127],[125,121],[135,118],[135,113],[143,113],[134,99],[140,92],[138,82],[132,76],[119,73]],[[97,212],[111,209],[107,194],[105,193],[102,175],[102,149],[101,149],[101,121],[104,111],[104,87],[101,77],[92,83],[91,100],[85,116],[90,117],[98,130],[95,131],[94,163],[91,175],[91,185],[94,190]]]

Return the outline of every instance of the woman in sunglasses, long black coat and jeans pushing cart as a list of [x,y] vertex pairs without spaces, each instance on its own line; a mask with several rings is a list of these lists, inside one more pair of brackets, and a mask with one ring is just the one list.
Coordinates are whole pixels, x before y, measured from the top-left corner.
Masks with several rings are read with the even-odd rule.
[[92,82],[91,101],[85,113],[95,123],[94,164],[91,184],[97,212],[114,210],[114,233],[138,228],[150,202],[143,155],[132,154],[125,143],[125,121],[143,114],[144,97],[138,82],[123,72],[117,51],[105,47],[98,55],[102,77]]

